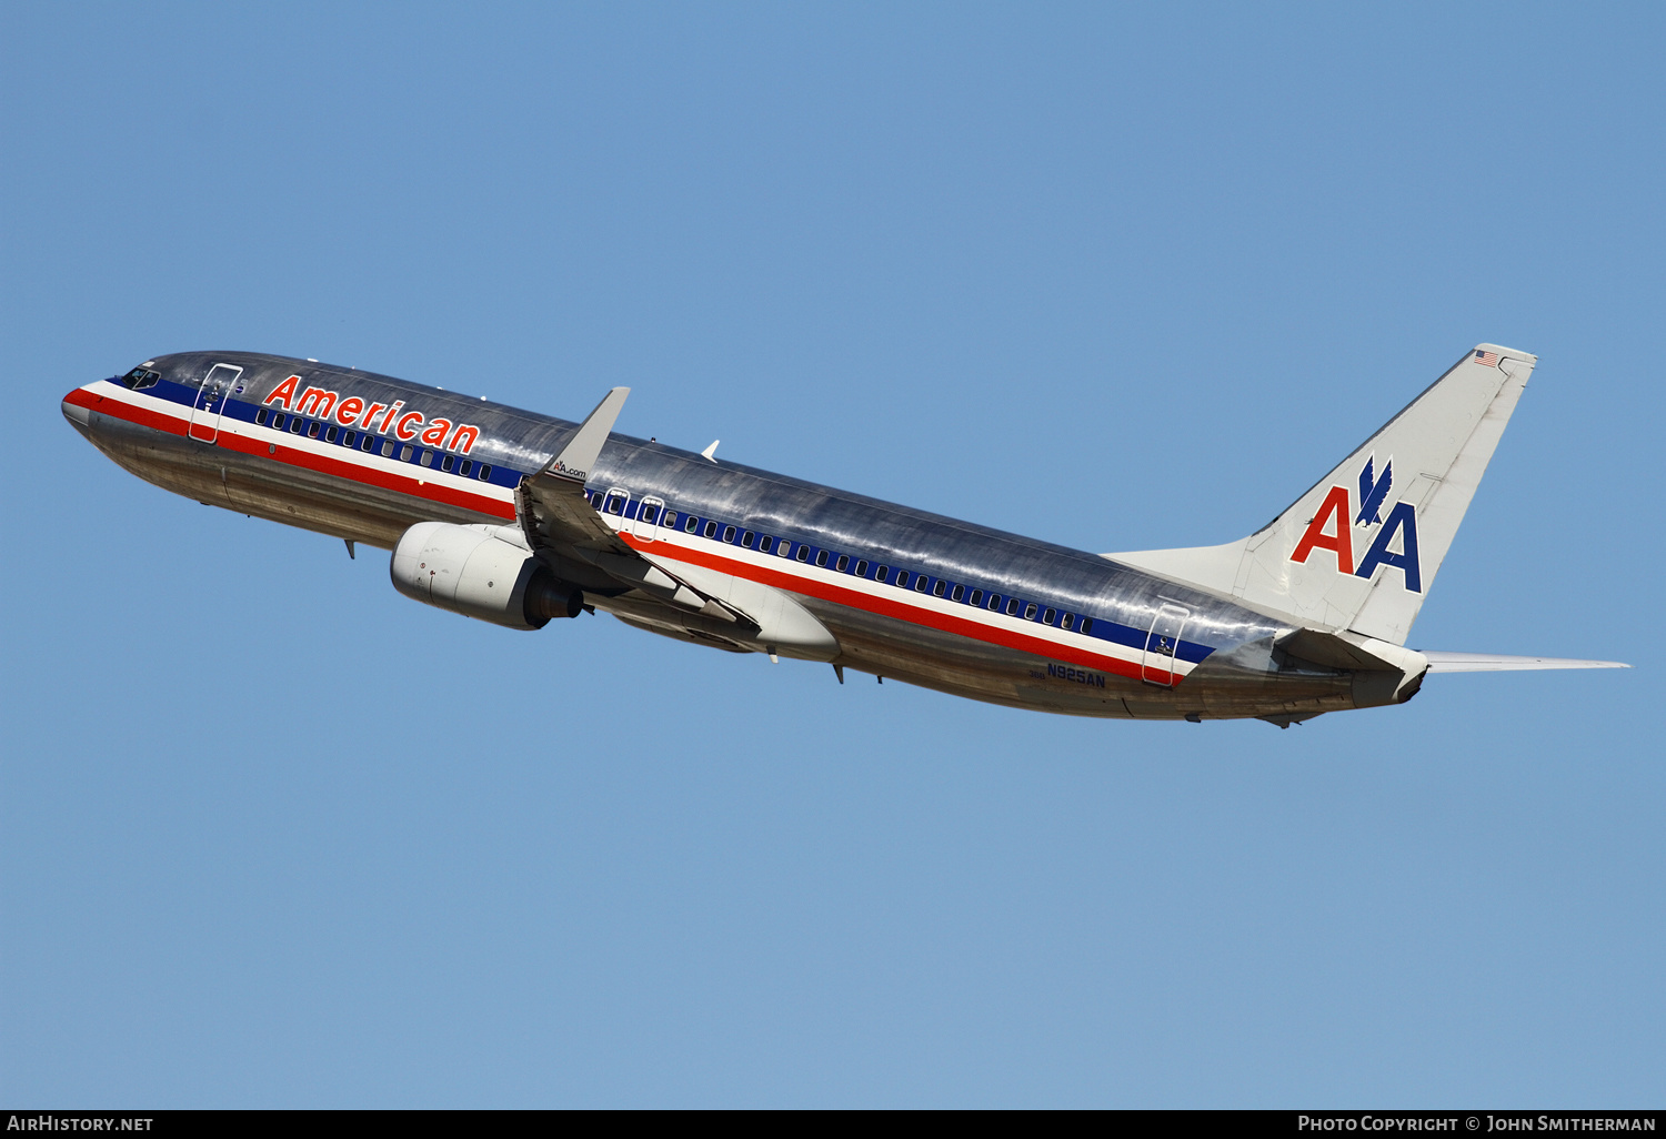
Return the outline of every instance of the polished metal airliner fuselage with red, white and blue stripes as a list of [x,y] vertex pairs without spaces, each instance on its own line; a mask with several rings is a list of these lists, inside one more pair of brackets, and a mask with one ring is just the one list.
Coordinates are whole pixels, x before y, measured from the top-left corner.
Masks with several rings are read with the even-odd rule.
[[[165,490],[393,548],[413,525],[513,525],[516,486],[568,420],[283,356],[147,361],[63,400],[105,455]],[[1100,555],[656,441],[608,436],[586,495],[633,550],[780,589],[836,641],[833,664],[960,696],[1115,718],[1294,716],[1359,706],[1349,674],[1286,658],[1289,629]],[[741,649],[666,619],[593,566],[585,599],[636,628]]]

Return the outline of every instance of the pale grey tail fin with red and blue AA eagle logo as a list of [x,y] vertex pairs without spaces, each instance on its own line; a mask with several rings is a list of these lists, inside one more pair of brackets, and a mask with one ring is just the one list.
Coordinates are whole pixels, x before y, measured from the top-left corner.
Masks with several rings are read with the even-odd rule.
[[1105,556],[1296,624],[1404,644],[1536,363],[1476,345],[1248,538]]

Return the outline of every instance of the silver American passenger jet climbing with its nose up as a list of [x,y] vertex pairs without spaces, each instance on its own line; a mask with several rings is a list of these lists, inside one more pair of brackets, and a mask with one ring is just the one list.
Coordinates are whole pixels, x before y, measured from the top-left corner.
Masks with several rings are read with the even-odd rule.
[[511,629],[606,611],[731,653],[971,699],[1288,728],[1429,673],[1628,668],[1416,651],[1411,624],[1538,358],[1466,351],[1246,538],[1085,553],[357,368],[147,360],[63,398],[117,465],[392,550],[405,596]]

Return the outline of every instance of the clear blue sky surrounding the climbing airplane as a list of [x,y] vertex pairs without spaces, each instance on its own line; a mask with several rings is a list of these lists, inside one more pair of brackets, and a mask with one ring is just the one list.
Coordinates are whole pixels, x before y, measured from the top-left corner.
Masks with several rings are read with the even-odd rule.
[[[0,1096],[1666,1091],[1651,5],[8,5]],[[1541,356],[1411,643],[1259,723],[518,634],[63,423],[317,356],[1065,541],[1226,541]]]

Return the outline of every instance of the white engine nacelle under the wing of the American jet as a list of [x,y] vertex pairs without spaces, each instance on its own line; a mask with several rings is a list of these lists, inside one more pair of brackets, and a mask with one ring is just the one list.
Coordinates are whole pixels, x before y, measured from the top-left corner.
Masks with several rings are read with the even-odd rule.
[[400,535],[388,574],[407,598],[511,629],[541,629],[585,606],[585,594],[556,581],[516,526],[416,523]]

